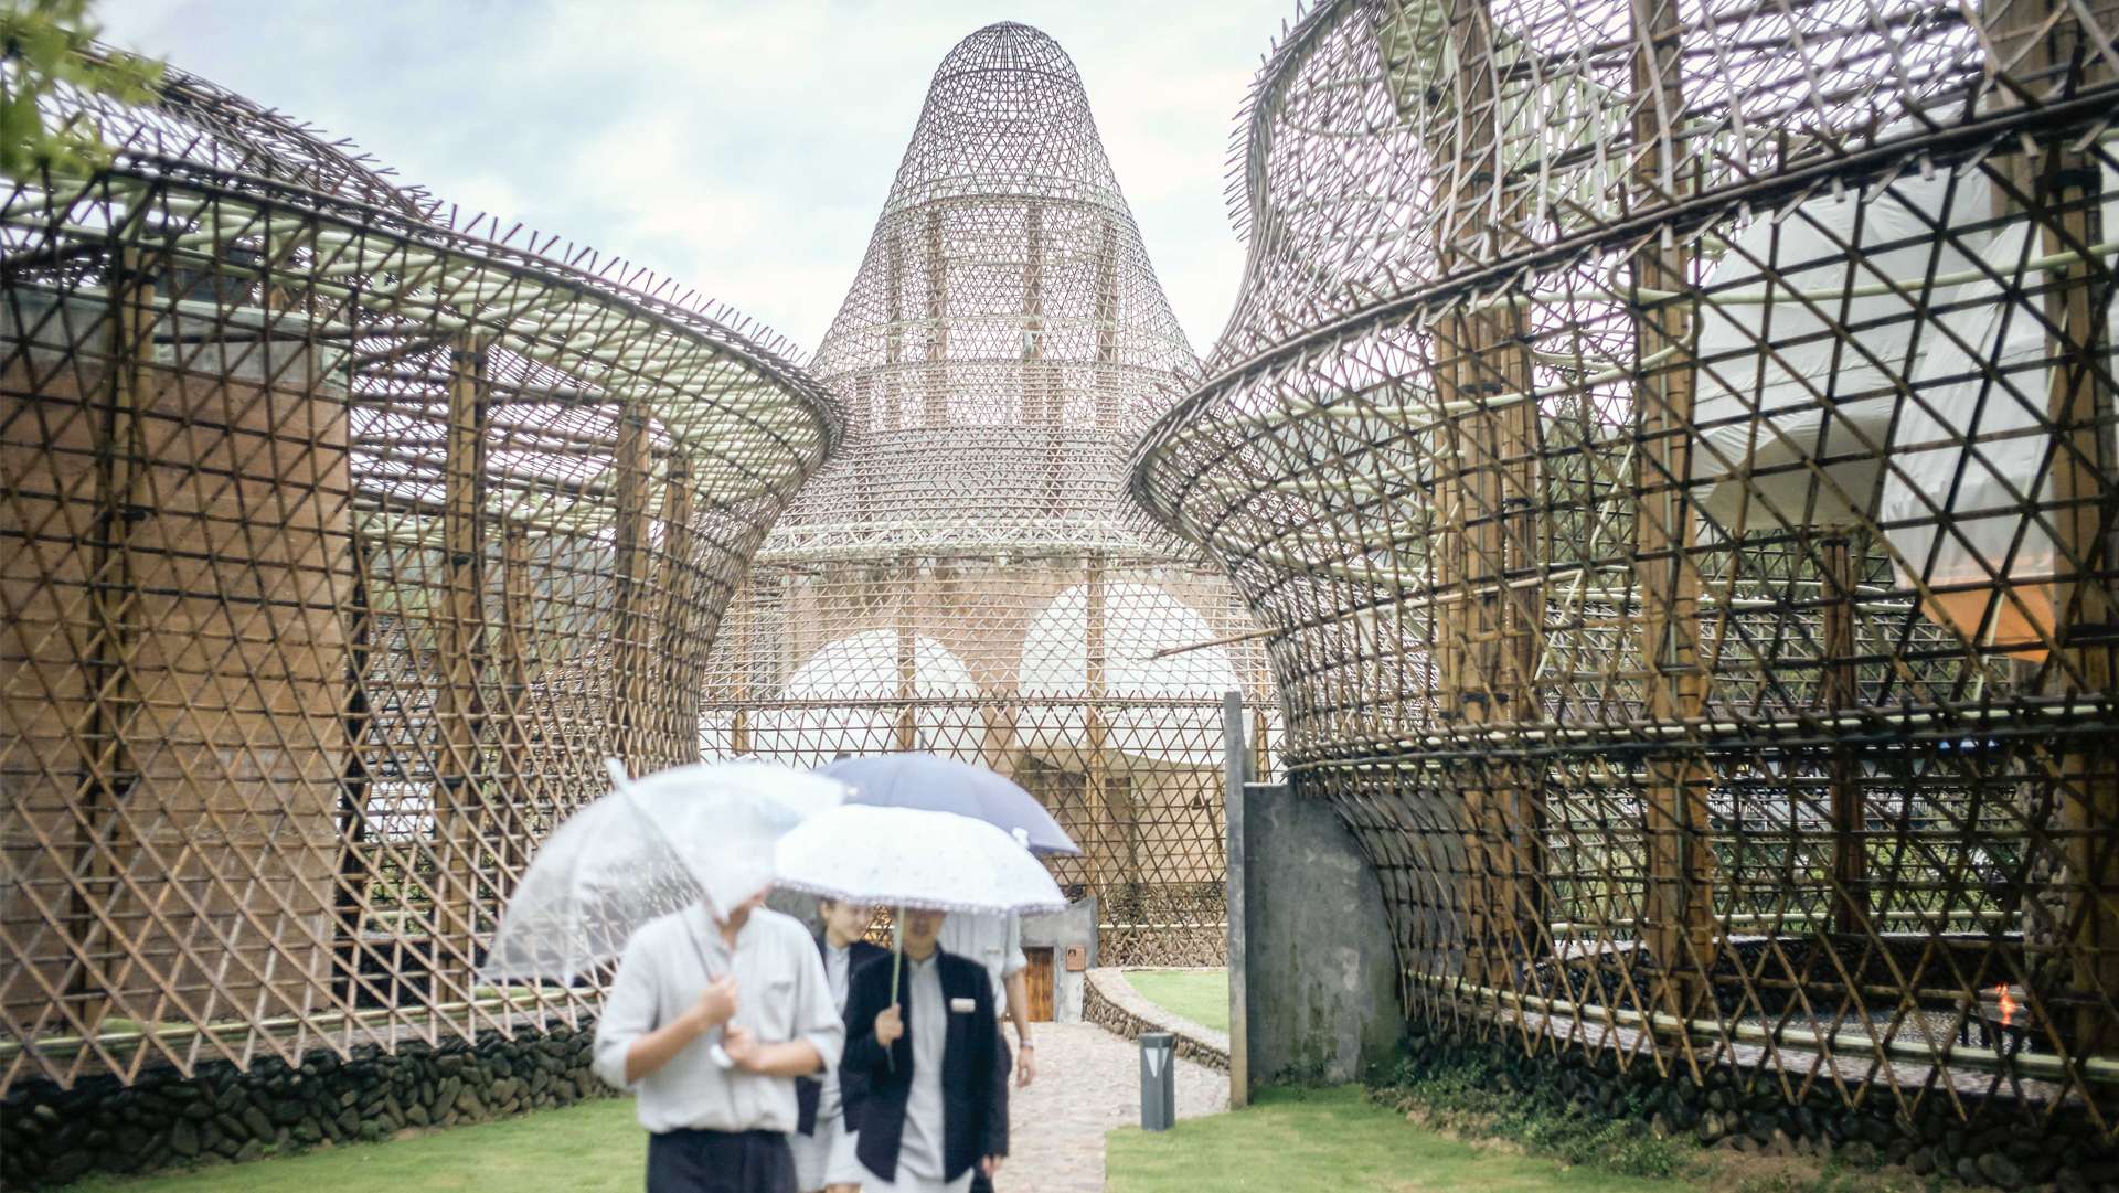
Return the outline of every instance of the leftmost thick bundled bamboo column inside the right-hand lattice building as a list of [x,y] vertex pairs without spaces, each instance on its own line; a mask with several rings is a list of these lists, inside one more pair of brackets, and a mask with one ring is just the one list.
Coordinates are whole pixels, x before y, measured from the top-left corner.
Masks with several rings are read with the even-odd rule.
[[[1443,273],[1498,252],[1498,68],[1483,0],[1452,0],[1447,36],[1458,61],[1458,127],[1449,161],[1452,220]],[[1515,303],[1458,307],[1437,324],[1437,396],[1449,420],[1445,536],[1439,551],[1437,663],[1443,716],[1471,750],[1507,752],[1513,729],[1541,718],[1534,676],[1543,651],[1538,566],[1538,407],[1528,398],[1528,324]],[[1545,930],[1543,797],[1532,767],[1479,759],[1458,767],[1468,873],[1466,966],[1477,983],[1513,973]]]

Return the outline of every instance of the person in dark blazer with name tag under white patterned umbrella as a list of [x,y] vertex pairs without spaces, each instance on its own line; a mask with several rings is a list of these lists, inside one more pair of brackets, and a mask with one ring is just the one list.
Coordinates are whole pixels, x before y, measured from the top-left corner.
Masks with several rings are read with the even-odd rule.
[[[839,1066],[850,1091],[865,1193],[962,1193],[1009,1153],[1009,1062],[985,966],[941,949],[941,911],[907,911],[898,1000],[888,960],[854,973],[852,1043]],[[865,1081],[858,1102],[856,1081]]]

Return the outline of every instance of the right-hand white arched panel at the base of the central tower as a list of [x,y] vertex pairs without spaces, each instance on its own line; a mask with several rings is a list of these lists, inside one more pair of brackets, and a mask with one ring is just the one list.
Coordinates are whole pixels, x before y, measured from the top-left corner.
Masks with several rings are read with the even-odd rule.
[[[1163,701],[1161,708],[1104,712],[1104,750],[1168,767],[1221,767],[1221,697],[1237,691],[1235,663],[1221,646],[1199,646],[1155,657],[1172,646],[1210,642],[1206,617],[1153,585],[1117,583],[1104,589],[1102,697]],[[1023,634],[1019,672],[1023,699],[1089,697],[1089,589],[1070,587],[1053,598]],[[1199,701],[1199,708],[1170,708]],[[1212,706],[1208,706],[1212,704]],[[1017,729],[1047,761],[1066,763],[1089,748],[1081,708],[1051,708]]]

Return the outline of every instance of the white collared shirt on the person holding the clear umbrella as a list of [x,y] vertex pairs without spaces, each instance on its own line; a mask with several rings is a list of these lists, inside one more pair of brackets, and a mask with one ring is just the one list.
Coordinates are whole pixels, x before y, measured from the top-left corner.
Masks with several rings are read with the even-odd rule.
[[640,1125],[651,1132],[680,1127],[708,1132],[793,1132],[795,1081],[714,1064],[720,1032],[684,1045],[670,1064],[625,1083],[625,1053],[640,1036],[674,1023],[706,994],[714,977],[735,975],[735,1026],[761,1045],[809,1040],[824,1068],[837,1068],[845,1026],[831,1007],[824,962],[801,922],[759,907],[735,937],[731,951],[706,907],[651,920],[619,960],[595,1023],[595,1072],[631,1089]]

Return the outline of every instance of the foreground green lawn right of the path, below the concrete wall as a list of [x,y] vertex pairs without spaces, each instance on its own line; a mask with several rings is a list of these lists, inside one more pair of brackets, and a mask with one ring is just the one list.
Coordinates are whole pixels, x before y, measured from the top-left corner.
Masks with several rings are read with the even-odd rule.
[[1415,1127],[1360,1087],[1265,1089],[1244,1110],[1185,1119],[1170,1132],[1108,1136],[1106,1193],[1195,1189],[1373,1189],[1377,1193],[1695,1191],[1606,1170],[1483,1149]]

